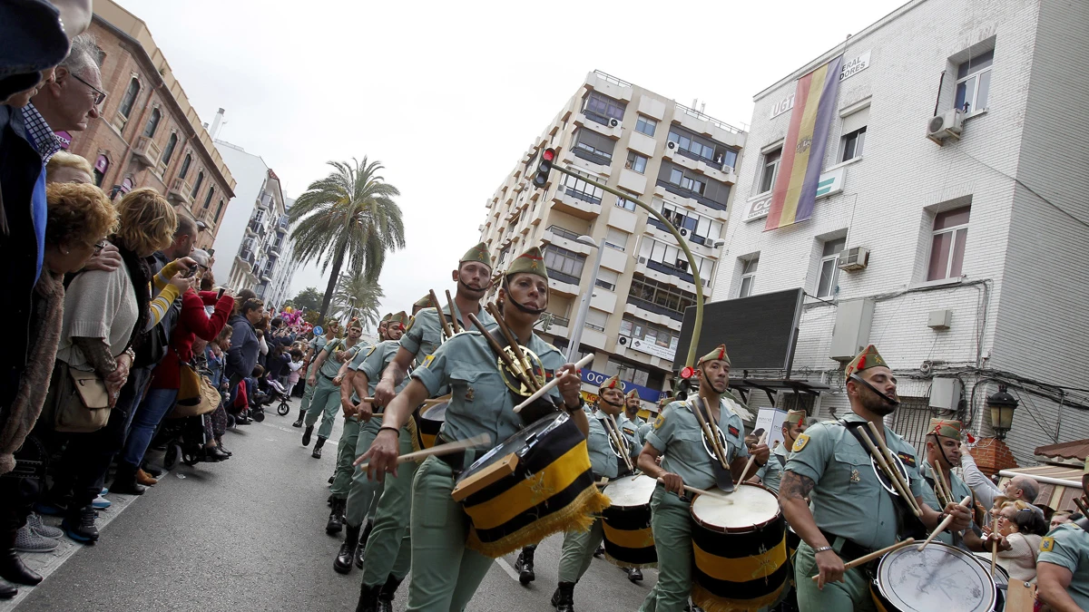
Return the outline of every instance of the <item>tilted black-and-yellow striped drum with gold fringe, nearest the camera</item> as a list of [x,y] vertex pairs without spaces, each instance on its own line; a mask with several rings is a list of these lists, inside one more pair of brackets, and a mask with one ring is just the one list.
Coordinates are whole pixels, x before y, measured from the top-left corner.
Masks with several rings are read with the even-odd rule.
[[466,546],[491,558],[558,531],[585,531],[609,505],[594,484],[586,438],[567,414],[544,417],[489,451],[453,494],[469,518]]

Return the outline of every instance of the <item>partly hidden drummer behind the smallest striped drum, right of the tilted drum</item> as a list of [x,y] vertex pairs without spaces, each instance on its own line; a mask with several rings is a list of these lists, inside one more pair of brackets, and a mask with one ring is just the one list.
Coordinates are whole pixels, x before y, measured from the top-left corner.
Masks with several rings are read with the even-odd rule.
[[[586,448],[590,454],[590,468],[594,470],[595,480],[600,481],[602,478],[614,480],[619,476],[631,474],[621,454],[622,450],[616,448],[616,442],[610,436],[615,423],[612,419],[620,417],[623,411],[624,391],[620,377],[614,376],[598,389],[598,409],[589,419],[590,433],[586,437]],[[627,448],[628,460],[634,465],[636,457],[639,456],[635,430],[633,429],[631,434],[624,432],[621,436],[624,436],[621,443]],[[575,584],[589,568],[594,551],[602,538],[601,517],[594,521],[588,531],[564,534],[563,548],[560,552],[560,584],[552,595],[552,605],[558,612],[574,611]]]

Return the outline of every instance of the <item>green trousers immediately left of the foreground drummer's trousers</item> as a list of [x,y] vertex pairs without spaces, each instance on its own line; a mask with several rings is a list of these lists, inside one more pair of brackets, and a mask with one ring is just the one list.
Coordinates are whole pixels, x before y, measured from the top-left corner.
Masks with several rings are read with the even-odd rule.
[[[400,453],[413,451],[412,434],[404,427],[399,436]],[[397,475],[386,475],[382,494],[375,510],[375,523],[367,538],[367,564],[363,567],[363,584],[377,587],[392,574],[404,579],[412,565],[412,538],[408,518],[412,513],[412,482],[418,463],[411,461],[397,466]]]

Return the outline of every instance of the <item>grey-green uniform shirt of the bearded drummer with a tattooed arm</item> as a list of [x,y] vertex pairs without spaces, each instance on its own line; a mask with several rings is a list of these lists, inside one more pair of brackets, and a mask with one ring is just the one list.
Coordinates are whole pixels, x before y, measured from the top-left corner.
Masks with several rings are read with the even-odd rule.
[[[865,423],[855,413],[847,421]],[[865,427],[865,426],[864,426]],[[922,495],[915,448],[885,427],[885,444],[907,468],[911,493]],[[819,423],[798,436],[786,472],[816,482],[810,507],[817,526],[858,546],[880,549],[896,542],[896,507],[901,503],[881,486],[861,442],[837,421]],[[831,542],[830,542],[831,543]]]

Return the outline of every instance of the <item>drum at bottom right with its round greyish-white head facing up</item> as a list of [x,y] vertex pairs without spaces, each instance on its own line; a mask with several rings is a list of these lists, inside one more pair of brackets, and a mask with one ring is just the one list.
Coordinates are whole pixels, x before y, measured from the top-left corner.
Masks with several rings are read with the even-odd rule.
[[870,595],[880,612],[992,612],[998,589],[989,573],[956,547],[907,546],[881,558]]

